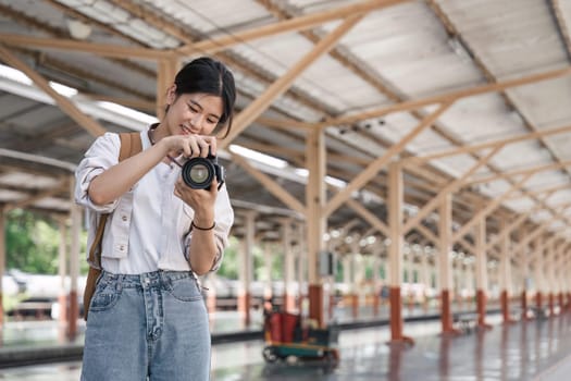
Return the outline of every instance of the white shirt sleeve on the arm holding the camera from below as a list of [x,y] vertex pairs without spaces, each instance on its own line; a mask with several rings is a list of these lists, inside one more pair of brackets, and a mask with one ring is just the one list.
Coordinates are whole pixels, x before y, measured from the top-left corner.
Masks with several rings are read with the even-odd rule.
[[[234,224],[234,210],[229,202],[228,193],[226,190],[226,185],[224,184],[220,189],[216,196],[216,204],[214,206],[214,221],[216,225],[214,226],[214,241],[216,245],[216,255],[212,263],[211,272],[220,269],[222,265],[222,259],[224,258],[224,249],[228,245],[228,235]],[[189,258],[190,253],[188,253],[190,247],[190,241],[193,239],[193,231],[187,234],[185,238],[186,247],[186,258]]]

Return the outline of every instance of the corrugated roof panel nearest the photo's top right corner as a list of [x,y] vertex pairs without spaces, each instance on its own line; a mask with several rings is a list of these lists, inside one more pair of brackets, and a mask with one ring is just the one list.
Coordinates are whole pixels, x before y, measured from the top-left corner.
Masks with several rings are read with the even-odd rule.
[[554,16],[545,1],[450,0],[439,4],[496,77],[567,63]]

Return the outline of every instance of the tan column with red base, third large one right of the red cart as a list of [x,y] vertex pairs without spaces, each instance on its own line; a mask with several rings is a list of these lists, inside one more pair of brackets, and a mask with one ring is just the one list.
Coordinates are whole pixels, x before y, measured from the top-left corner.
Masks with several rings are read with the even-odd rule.
[[487,298],[487,255],[486,255],[486,217],[480,218],[475,226],[475,270],[476,270],[476,311],[477,325],[492,328],[486,324]]

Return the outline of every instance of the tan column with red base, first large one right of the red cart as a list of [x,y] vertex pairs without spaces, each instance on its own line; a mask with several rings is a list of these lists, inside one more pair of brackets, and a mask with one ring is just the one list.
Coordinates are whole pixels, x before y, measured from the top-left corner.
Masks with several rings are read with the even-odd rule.
[[390,246],[388,247],[390,273],[390,342],[413,343],[411,337],[402,334],[402,206],[404,184],[402,169],[393,161],[388,165],[388,231]]

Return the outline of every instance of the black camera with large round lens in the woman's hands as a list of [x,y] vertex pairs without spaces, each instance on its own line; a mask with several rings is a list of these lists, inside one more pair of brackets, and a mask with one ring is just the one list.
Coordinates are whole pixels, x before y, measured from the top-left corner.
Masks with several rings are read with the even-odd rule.
[[219,164],[218,158],[210,152],[206,158],[190,158],[184,163],[181,175],[186,185],[193,189],[208,189],[212,181],[219,182],[219,190],[224,184],[224,167]]

